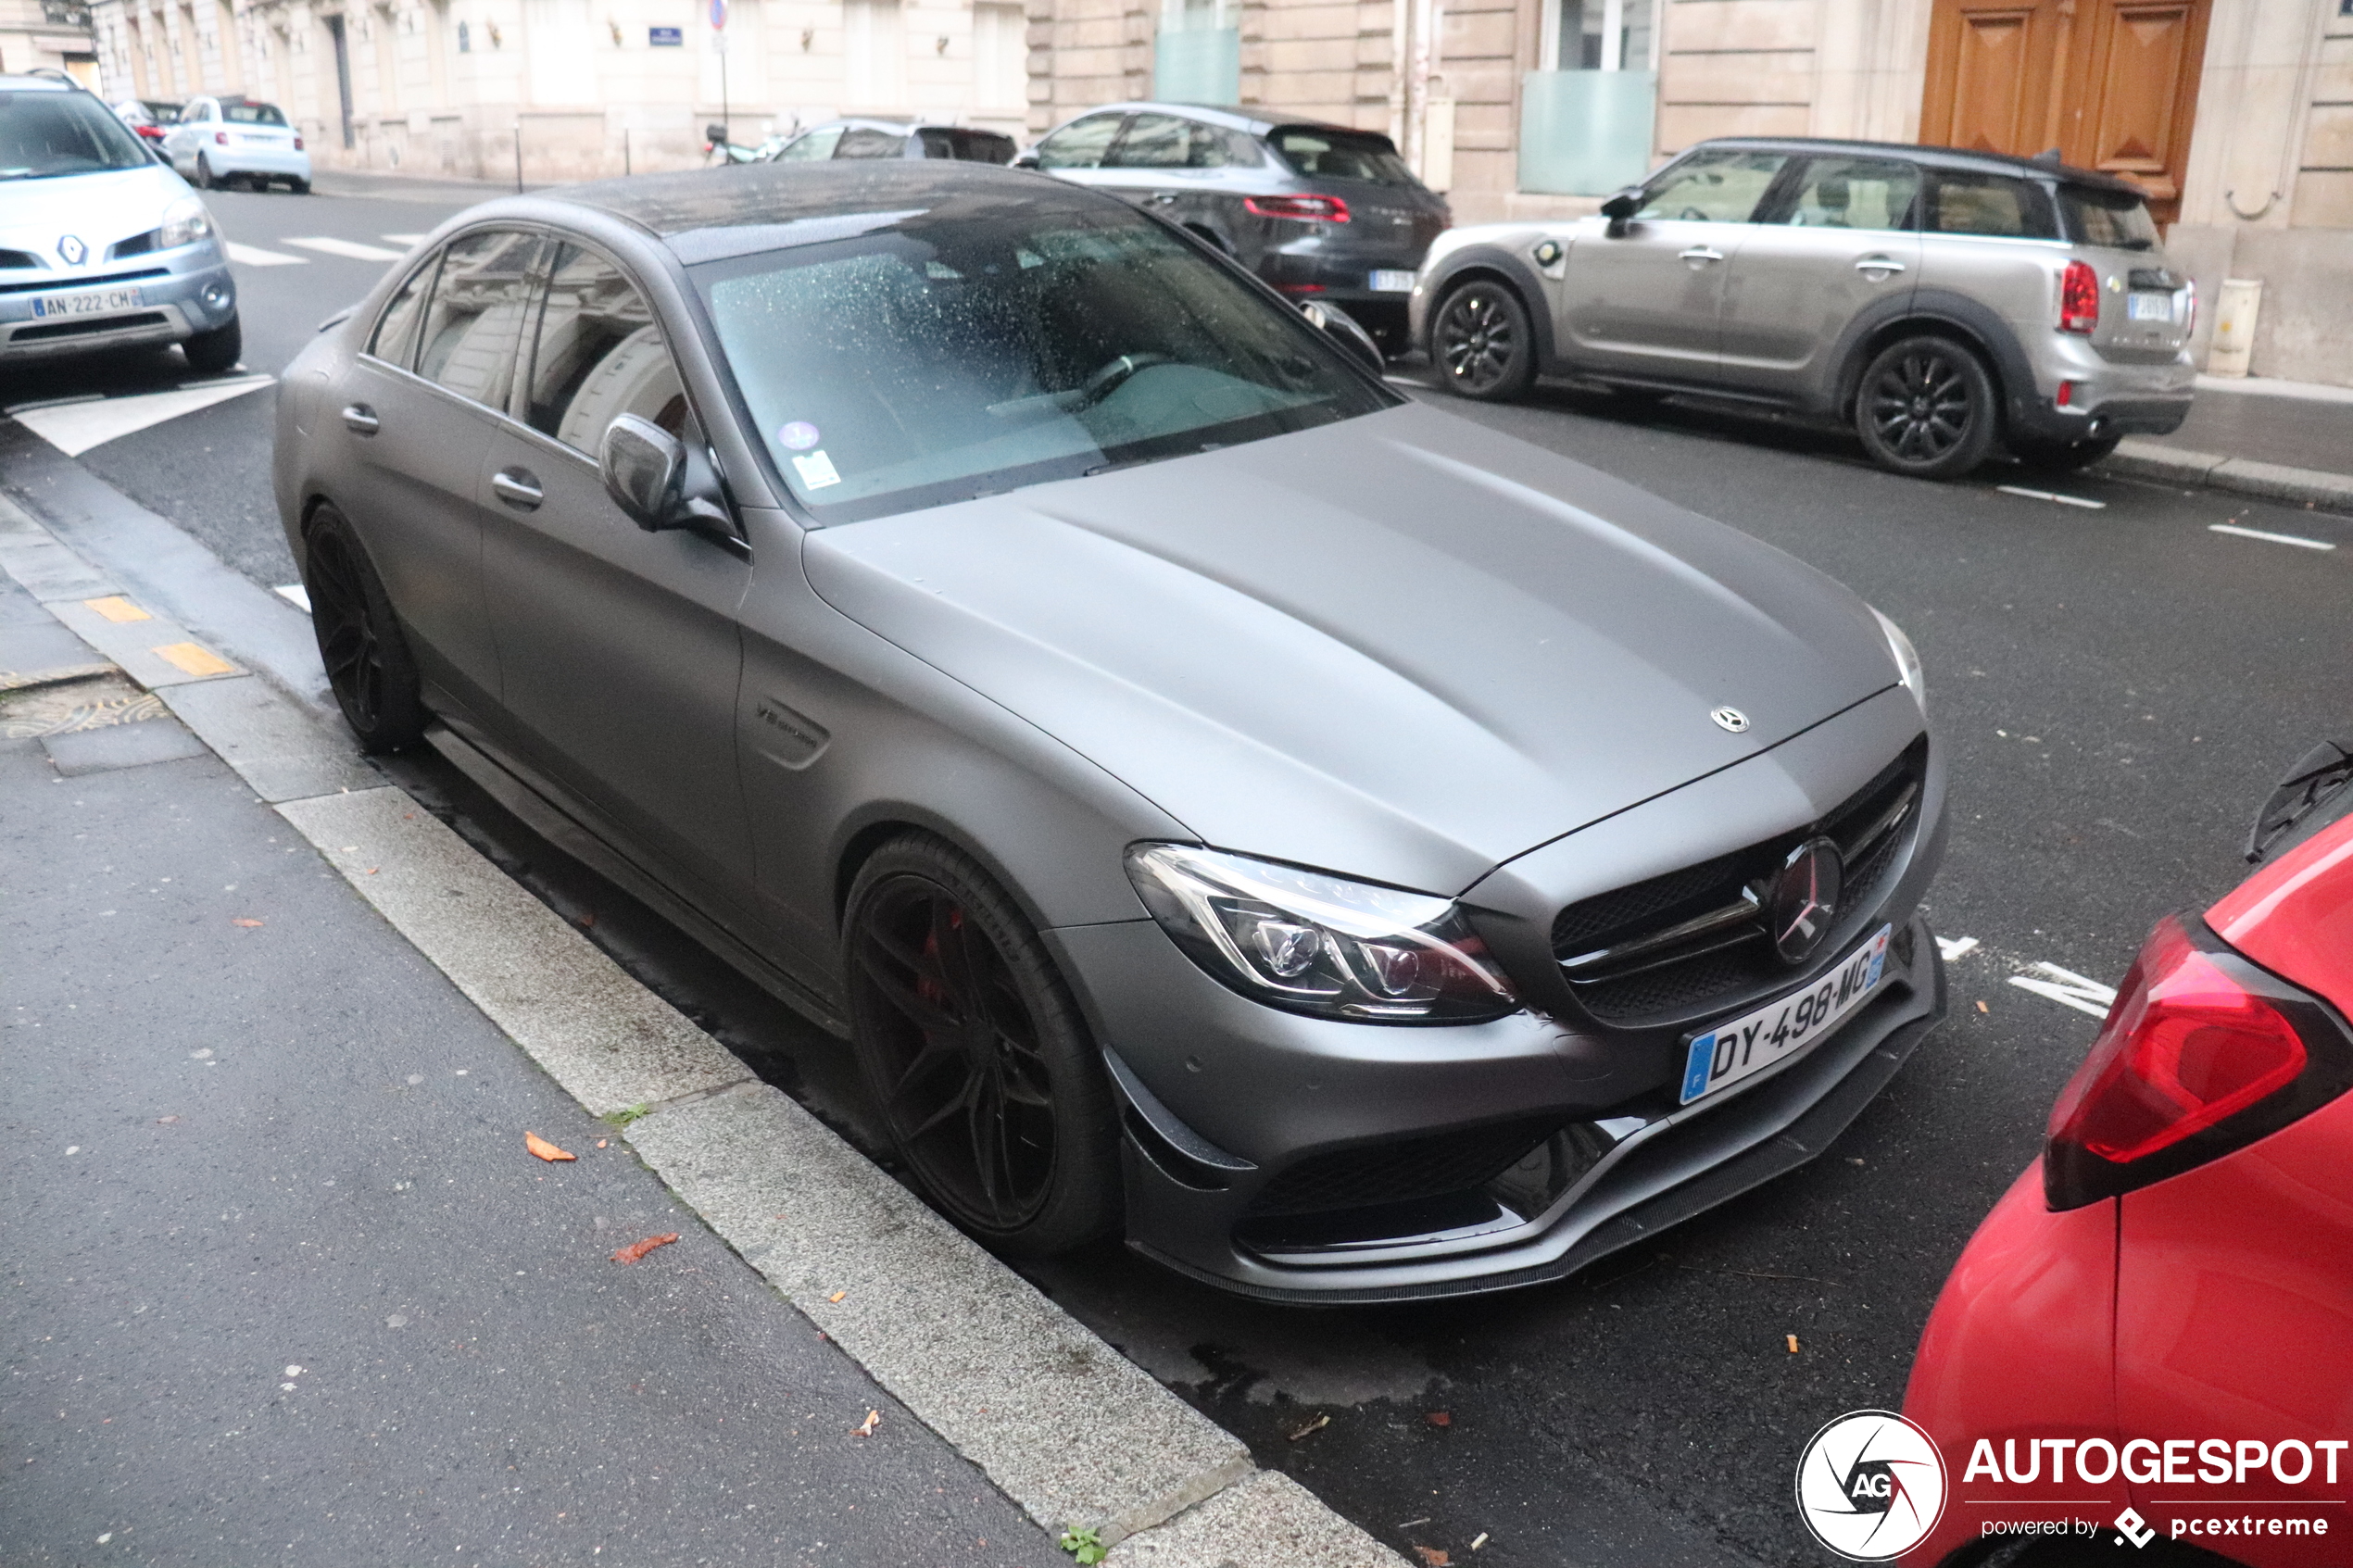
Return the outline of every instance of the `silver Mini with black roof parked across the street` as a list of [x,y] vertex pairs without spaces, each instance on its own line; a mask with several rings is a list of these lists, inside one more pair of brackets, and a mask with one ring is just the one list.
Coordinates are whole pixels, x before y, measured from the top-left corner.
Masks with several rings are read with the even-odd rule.
[[2078,468],[2191,407],[2195,292],[2141,190],[1871,141],[1704,141],[1600,216],[1457,228],[1414,336],[1464,397],[1541,376],[1852,425],[1882,468]]

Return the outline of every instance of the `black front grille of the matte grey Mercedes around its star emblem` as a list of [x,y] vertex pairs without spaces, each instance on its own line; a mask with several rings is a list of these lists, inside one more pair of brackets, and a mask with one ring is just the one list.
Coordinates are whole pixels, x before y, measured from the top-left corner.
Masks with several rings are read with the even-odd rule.
[[1595,1020],[1633,1027],[1718,1013],[1786,985],[1791,969],[1765,931],[1781,863],[1814,837],[1845,853],[1838,929],[1821,950],[1831,957],[1854,940],[1904,863],[1925,778],[1920,738],[1819,823],[1565,907],[1553,919],[1553,957],[1569,992]]

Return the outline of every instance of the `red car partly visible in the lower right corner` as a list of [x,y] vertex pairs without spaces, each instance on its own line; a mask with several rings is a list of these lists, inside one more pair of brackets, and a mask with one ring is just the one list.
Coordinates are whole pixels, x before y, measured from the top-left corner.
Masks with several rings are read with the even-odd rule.
[[2158,922],[1937,1300],[1908,1563],[2353,1563],[2353,750],[2247,858]]

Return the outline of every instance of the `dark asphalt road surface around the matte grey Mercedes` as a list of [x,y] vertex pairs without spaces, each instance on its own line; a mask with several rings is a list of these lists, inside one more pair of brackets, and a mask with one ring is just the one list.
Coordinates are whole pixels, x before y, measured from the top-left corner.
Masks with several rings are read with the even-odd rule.
[[[431,209],[393,216],[381,200],[240,195],[216,197],[216,212],[231,237],[285,252],[294,237],[381,242],[431,226]],[[247,320],[273,322],[247,362],[282,362],[271,355],[374,275],[329,256],[245,270]],[[285,564],[266,501],[266,397],[82,461],[256,581],[287,581],[273,576]],[[1946,1269],[2033,1157],[2094,1032],[2009,978],[2047,961],[2113,985],[2155,917],[2240,879],[2238,844],[2268,783],[2313,741],[2346,733],[2353,520],[2127,480],[2054,487],[1988,470],[1918,484],[1864,465],[1852,442],[1678,404],[1440,402],[1755,534],[1908,628],[1953,769],[1929,914],[1946,938],[1977,938],[1951,966],[1953,1016],[1831,1157],[1577,1281],[1294,1312],[1228,1300],[1115,1246],[1033,1279],[1264,1465],[1398,1547],[1457,1563],[1821,1561],[1788,1505],[1800,1443],[1842,1410],[1901,1399]],[[2005,494],[2012,482],[2097,505]],[[400,769],[560,910],[595,914],[593,936],[635,973],[871,1147],[838,1046],[431,757]],[[1329,1425],[1292,1436],[1318,1415]]]

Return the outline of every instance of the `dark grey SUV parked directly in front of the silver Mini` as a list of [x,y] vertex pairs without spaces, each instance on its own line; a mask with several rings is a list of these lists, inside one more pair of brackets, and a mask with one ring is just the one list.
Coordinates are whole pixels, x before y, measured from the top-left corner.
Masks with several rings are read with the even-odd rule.
[[1388,353],[1431,242],[1454,221],[1395,143],[1320,120],[1193,103],[1113,103],[1021,155],[1151,207],[1294,301],[1339,306]]

